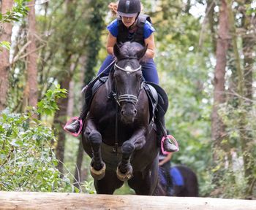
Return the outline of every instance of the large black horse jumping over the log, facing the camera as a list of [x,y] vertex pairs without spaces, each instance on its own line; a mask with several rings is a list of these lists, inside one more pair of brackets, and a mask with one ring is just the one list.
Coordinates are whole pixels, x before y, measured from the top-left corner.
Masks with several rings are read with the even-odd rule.
[[140,65],[146,50],[135,42],[115,45],[116,63],[91,101],[82,142],[100,194],[113,194],[124,181],[138,195],[157,187],[159,147]]

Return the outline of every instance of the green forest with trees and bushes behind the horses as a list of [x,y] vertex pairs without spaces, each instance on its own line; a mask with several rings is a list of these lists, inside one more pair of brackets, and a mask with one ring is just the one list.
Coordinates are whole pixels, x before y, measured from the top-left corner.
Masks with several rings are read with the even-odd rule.
[[[202,197],[255,199],[256,2],[141,1],[180,147],[172,164],[195,171]],[[63,127],[107,55],[111,1],[0,2],[0,190],[95,193]]]

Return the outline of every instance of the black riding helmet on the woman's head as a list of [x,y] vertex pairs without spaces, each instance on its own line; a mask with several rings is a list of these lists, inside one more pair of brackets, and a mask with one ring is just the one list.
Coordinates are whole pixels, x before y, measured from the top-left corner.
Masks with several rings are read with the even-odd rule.
[[135,15],[139,15],[140,0],[120,0],[117,7],[117,13],[124,17],[134,17]]

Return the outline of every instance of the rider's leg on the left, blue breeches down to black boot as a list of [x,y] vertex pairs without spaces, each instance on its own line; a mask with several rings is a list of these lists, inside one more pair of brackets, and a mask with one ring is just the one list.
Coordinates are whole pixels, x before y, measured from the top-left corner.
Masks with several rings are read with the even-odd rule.
[[[107,58],[105,59],[105,61],[102,63],[102,66],[100,67],[97,75],[101,74],[102,71],[104,71],[104,74],[108,74],[110,69],[113,66],[113,65],[111,65],[111,66],[109,66],[109,65],[110,65],[110,63],[112,63],[113,60],[114,60],[114,56],[108,55]],[[108,67],[108,69],[106,69],[107,67]],[[86,91],[91,91],[91,90],[86,90]],[[87,94],[86,98],[88,98],[88,97],[91,97],[91,95]],[[87,113],[89,112],[89,107],[86,104],[86,101],[87,100],[85,100],[85,102],[83,104],[82,112],[80,113],[80,116],[78,117],[80,120],[83,120],[83,121],[86,119]],[[67,131],[70,131],[72,133],[78,133],[79,128],[80,128],[80,122],[78,120],[75,120],[74,123],[66,126]]]

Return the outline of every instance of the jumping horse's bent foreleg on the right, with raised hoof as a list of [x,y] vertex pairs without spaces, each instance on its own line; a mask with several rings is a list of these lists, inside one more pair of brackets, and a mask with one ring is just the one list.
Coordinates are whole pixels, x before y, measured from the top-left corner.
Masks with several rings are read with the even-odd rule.
[[118,179],[127,181],[132,178],[132,165],[130,163],[132,152],[143,147],[145,143],[145,129],[136,131],[129,140],[124,141],[121,147],[121,163],[119,163],[116,171]]

